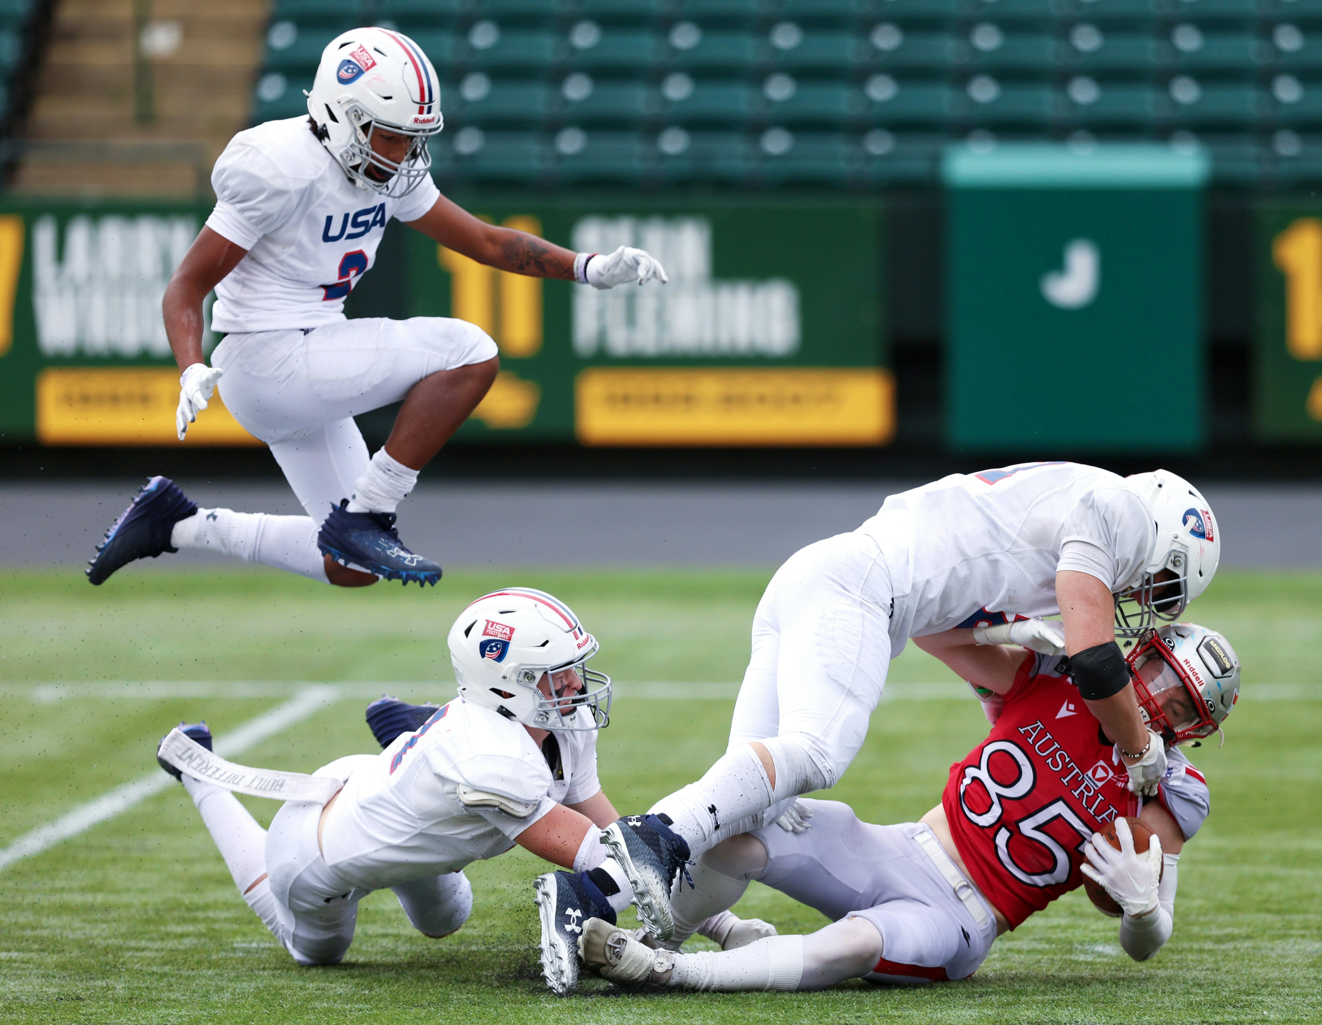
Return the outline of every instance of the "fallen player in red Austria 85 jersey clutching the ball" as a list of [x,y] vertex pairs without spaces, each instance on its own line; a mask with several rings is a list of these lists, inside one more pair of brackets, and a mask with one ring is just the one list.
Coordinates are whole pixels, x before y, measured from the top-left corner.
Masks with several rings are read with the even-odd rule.
[[[838,801],[800,800],[781,821],[707,852],[695,889],[678,885],[674,895],[680,942],[690,923],[734,905],[750,880],[816,907],[832,924],[736,951],[682,954],[594,919],[579,944],[587,967],[625,985],[685,989],[964,979],[997,935],[1080,886],[1084,873],[1121,906],[1124,950],[1134,960],[1155,954],[1171,932],[1179,852],[1210,809],[1206,780],[1177,745],[1216,731],[1235,704],[1231,645],[1175,623],[1130,653],[1144,717],[1169,747],[1166,775],[1147,801],[1129,791],[1064,657],[973,644],[941,655],[1001,702],[989,713],[990,735],[951,768],[941,803],[921,821],[871,825]],[[1154,831],[1144,854],[1124,816]],[[1109,823],[1120,850],[1096,832]]]

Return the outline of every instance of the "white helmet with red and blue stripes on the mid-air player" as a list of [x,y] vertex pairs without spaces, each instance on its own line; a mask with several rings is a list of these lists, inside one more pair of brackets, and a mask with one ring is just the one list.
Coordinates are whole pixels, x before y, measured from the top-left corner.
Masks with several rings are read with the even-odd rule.
[[[430,173],[427,140],[443,124],[440,86],[427,54],[407,36],[381,28],[337,36],[321,52],[307,97],[317,138],[360,189],[398,198]],[[398,164],[373,152],[378,127],[412,136]]]

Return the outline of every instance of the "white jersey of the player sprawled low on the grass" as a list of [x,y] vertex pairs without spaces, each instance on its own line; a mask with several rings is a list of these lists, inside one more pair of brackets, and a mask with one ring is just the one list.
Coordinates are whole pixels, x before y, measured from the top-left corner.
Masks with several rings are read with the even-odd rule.
[[327,865],[379,889],[502,854],[557,804],[602,790],[596,730],[551,735],[555,770],[524,726],[456,697],[352,771],[323,828]]

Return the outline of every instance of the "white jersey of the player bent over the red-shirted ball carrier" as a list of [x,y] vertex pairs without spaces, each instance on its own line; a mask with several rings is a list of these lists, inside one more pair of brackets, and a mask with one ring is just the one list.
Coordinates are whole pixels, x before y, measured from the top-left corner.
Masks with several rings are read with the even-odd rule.
[[896,653],[907,637],[1055,615],[1058,570],[1120,591],[1157,544],[1151,512],[1125,479],[1079,463],[952,473],[891,495],[858,530],[890,569]]

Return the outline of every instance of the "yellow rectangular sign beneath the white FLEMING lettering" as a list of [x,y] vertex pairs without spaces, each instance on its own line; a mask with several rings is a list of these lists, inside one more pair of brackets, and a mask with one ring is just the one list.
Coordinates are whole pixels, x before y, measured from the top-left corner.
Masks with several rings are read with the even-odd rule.
[[578,376],[583,444],[876,446],[895,431],[880,369],[613,369]]

